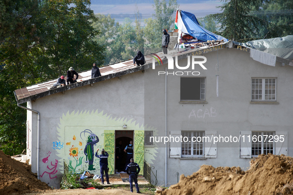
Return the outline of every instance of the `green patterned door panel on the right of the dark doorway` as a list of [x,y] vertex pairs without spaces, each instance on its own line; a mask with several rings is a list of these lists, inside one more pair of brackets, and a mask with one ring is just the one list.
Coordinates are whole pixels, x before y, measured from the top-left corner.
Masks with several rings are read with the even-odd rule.
[[140,174],[143,175],[144,160],[144,131],[134,131],[134,162],[140,167]]

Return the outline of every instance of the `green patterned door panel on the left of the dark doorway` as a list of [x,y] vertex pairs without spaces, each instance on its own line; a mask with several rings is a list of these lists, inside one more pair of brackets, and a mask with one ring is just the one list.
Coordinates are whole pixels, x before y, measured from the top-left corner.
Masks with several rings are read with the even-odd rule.
[[115,163],[115,130],[104,131],[104,149],[108,152],[108,167],[109,174],[115,174],[114,163]]

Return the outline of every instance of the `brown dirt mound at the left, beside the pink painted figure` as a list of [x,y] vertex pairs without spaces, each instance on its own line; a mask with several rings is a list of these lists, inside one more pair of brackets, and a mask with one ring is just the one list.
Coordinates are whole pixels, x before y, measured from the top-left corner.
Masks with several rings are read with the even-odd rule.
[[24,194],[51,189],[37,179],[31,166],[3,153],[0,150],[0,195]]

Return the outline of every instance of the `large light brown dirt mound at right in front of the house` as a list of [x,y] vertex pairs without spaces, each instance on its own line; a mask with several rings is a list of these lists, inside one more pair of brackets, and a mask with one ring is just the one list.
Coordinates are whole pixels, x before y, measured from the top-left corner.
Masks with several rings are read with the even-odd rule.
[[203,165],[190,176],[156,195],[292,195],[293,158],[273,154],[250,161],[246,172],[239,167]]

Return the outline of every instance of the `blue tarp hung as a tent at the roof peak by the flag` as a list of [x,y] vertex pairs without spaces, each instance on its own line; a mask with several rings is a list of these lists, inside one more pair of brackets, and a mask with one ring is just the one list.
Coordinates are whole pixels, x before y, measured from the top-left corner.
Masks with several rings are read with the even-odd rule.
[[186,30],[188,31],[188,34],[191,35],[192,37],[197,38],[199,41],[207,42],[208,40],[224,40],[225,42],[228,41],[228,39],[216,35],[207,29],[201,27],[195,17],[194,14],[186,12],[186,11],[181,11],[181,18],[182,21],[186,27]]

